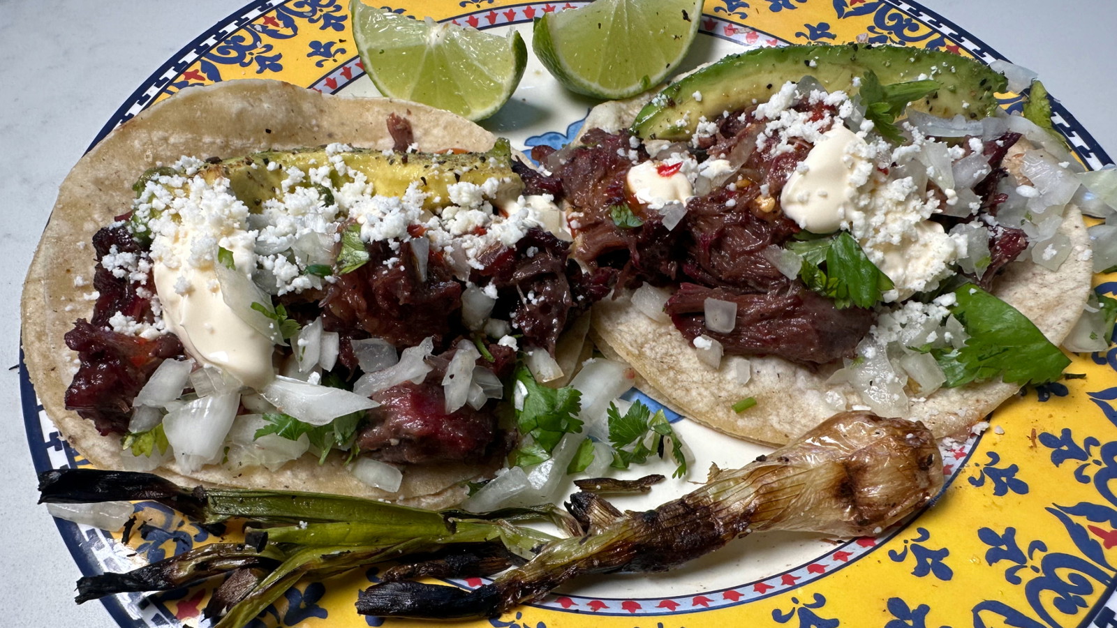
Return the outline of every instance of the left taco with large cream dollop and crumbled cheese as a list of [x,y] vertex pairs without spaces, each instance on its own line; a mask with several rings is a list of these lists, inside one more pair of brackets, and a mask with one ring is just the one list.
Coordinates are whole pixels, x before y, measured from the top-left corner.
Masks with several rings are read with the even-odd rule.
[[506,141],[416,103],[182,91],[60,188],[22,297],[46,412],[103,468],[459,502],[507,453],[517,349],[546,363],[602,294],[517,172]]

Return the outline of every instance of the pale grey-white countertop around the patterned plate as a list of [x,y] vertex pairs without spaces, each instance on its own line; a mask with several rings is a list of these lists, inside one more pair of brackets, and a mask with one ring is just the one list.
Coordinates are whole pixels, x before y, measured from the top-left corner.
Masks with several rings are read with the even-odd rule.
[[[924,6],[1037,70],[1052,95],[1117,155],[1117,3],[927,0]],[[165,59],[233,11],[222,0],[0,0],[0,625],[113,628],[97,602],[73,603],[80,575],[37,498],[19,405],[19,296],[58,184],[117,106]],[[7,619],[3,619],[7,617]]]

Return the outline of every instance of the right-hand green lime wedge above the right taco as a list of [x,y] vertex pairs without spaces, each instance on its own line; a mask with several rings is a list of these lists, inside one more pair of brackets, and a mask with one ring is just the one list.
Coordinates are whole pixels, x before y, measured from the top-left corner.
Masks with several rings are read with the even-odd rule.
[[596,0],[545,13],[532,48],[564,87],[627,98],[658,84],[695,39],[701,0]]

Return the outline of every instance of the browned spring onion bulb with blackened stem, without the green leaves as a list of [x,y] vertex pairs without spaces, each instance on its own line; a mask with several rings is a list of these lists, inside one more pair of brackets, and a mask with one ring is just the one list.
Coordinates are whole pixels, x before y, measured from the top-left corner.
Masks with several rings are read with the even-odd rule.
[[[920,422],[868,412],[831,417],[741,469],[715,469],[697,491],[641,513],[579,493],[584,536],[547,544],[519,569],[472,591],[391,582],[361,592],[357,611],[433,619],[493,617],[577,575],[662,571],[751,532],[873,534],[925,505],[943,486],[934,436]],[[577,516],[577,515],[575,515]]]

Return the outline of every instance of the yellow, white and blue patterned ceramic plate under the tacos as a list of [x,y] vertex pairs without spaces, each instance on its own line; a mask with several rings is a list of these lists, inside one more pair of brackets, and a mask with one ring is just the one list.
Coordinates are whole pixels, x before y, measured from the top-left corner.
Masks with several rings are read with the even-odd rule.
[[[582,2],[395,0],[394,10],[528,38],[531,21]],[[725,54],[784,44],[866,41],[943,48],[992,61],[977,38],[922,7],[889,0],[708,0],[689,69]],[[200,35],[121,106],[102,136],[153,102],[191,85],[277,78],[330,93],[374,95],[362,77],[344,0],[254,2]],[[1012,95],[1008,95],[1012,96]],[[532,58],[513,99],[485,122],[518,148],[560,146],[594,103],[562,91]],[[1005,107],[1019,107],[1008,97]],[[1090,135],[1054,106],[1054,122],[1089,168],[1108,163]],[[1100,283],[1117,293],[1117,283]],[[1079,355],[1071,379],[1022,393],[981,437],[945,449],[948,486],[934,507],[876,539],[755,535],[676,572],[599,577],[540,603],[469,626],[700,628],[787,625],[794,628],[944,626],[1054,628],[1117,626],[1110,598],[1117,565],[1117,350]],[[37,406],[22,373],[25,418],[38,470],[80,466]],[[698,464],[737,467],[753,446],[680,419]],[[700,475],[700,472],[695,476]],[[657,488],[650,507],[684,493]],[[103,531],[59,522],[82,570],[124,571],[212,542],[163,506],[142,504],[145,522],[127,544]],[[380,626],[353,610],[375,570],[326,582],[299,582],[251,624]],[[477,587],[480,579],[458,581]],[[121,626],[198,626],[204,589],[116,596],[105,606]],[[388,626],[430,626],[388,620]]]

